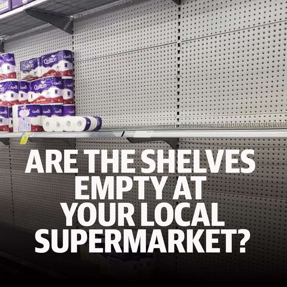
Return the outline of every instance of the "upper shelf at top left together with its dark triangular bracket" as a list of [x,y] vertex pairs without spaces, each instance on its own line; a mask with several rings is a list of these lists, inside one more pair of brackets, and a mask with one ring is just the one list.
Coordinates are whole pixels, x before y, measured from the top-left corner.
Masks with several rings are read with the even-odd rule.
[[[72,33],[72,22],[131,0],[36,0],[0,15],[0,39],[11,39],[54,25]],[[1,34],[5,32],[5,34]]]

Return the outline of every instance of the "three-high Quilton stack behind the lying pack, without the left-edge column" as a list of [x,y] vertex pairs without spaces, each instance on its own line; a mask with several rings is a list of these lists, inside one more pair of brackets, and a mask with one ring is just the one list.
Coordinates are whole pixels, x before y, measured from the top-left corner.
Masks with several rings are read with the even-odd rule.
[[45,119],[63,117],[66,109],[75,115],[72,76],[73,57],[68,50],[21,61],[13,131],[42,132]]

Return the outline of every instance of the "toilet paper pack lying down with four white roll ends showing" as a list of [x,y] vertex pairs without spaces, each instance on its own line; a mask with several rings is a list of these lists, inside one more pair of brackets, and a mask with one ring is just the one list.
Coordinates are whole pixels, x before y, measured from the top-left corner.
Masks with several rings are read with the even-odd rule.
[[43,120],[45,132],[95,132],[102,126],[102,119],[98,116],[86,117],[51,117]]

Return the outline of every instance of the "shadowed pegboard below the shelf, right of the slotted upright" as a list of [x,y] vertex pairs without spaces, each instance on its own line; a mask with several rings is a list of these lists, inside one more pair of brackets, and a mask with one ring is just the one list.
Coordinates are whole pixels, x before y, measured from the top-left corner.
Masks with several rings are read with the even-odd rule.
[[[190,220],[197,202],[204,202],[209,218],[211,203],[218,203],[218,219],[224,221],[226,229],[246,228],[251,239],[246,243],[245,254],[239,253],[240,240],[233,239],[233,252],[225,254],[225,240],[221,236],[217,247],[221,253],[179,254],[178,272],[188,274],[212,269],[210,276],[217,278],[222,269],[228,270],[227,278],[242,274],[244,278],[262,280],[270,276],[283,276],[286,272],[286,225],[287,201],[285,190],[285,139],[181,139],[179,149],[199,149],[201,168],[207,168],[207,181],[202,185],[202,199],[189,201],[191,210],[183,213],[184,220]],[[205,149],[211,149],[216,158],[219,149],[254,149],[256,168],[253,173],[225,174],[225,164],[219,173],[211,174]],[[234,156],[236,158],[236,156]],[[224,161],[224,160],[223,160]],[[239,165],[242,165],[239,160]],[[188,166],[188,165],[187,165]],[[193,167],[191,160],[190,167]],[[187,174],[185,174],[187,175]],[[194,174],[202,175],[202,174]],[[188,175],[187,175],[188,176]],[[194,190],[191,185],[191,192]],[[183,197],[178,200],[186,202]],[[204,227],[200,223],[195,230]],[[181,230],[186,228],[180,227]],[[202,241],[204,242],[204,240]],[[202,243],[204,245],[204,243]],[[221,270],[221,271],[220,271]],[[272,275],[271,275],[272,274]]]

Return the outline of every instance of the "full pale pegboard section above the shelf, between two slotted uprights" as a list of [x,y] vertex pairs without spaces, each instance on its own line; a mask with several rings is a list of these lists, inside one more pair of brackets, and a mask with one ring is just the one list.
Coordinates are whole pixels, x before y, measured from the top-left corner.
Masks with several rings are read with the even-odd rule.
[[78,114],[103,128],[175,126],[178,6],[135,1],[74,24]]

